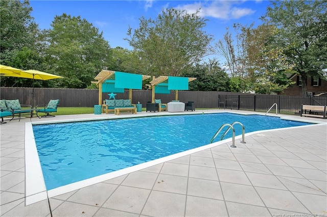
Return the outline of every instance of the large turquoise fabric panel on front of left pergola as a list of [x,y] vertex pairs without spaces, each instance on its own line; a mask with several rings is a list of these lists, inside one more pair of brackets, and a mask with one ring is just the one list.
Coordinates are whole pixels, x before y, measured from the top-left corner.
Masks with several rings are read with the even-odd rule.
[[[126,72],[114,72],[115,88],[142,90],[142,75]],[[114,92],[114,91],[112,91]]]

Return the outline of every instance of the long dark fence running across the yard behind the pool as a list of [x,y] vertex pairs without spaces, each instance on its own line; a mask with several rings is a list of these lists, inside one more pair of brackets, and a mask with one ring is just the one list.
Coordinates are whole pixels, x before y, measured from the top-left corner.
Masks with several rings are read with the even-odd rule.
[[[156,99],[163,103],[175,100],[175,91],[170,94],[156,94]],[[33,100],[34,95],[34,100]],[[145,105],[151,100],[151,90],[133,90],[132,103]],[[125,93],[117,93],[116,99],[127,99],[128,90]],[[19,99],[21,104],[46,104],[50,99],[60,99],[61,107],[93,107],[98,104],[99,90],[86,89],[53,89],[53,88],[0,88],[1,99]],[[102,100],[108,99],[103,93]],[[283,96],[249,93],[230,93],[219,91],[178,91],[178,100],[182,102],[194,101],[197,108],[229,108],[235,110],[249,110],[267,112],[274,104],[277,104],[278,113],[298,114],[302,104],[327,105],[327,97],[312,96]],[[145,107],[145,106],[144,106]],[[271,112],[275,112],[275,107]]]

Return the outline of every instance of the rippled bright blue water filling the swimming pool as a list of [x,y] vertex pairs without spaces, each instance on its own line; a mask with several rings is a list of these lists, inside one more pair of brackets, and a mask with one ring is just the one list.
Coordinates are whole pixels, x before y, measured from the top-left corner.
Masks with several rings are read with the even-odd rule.
[[[222,124],[235,121],[246,133],[310,124],[220,113],[41,124],[33,125],[33,132],[50,190],[207,145]],[[242,134],[240,125],[234,127],[236,135]],[[230,137],[231,132],[225,138]]]

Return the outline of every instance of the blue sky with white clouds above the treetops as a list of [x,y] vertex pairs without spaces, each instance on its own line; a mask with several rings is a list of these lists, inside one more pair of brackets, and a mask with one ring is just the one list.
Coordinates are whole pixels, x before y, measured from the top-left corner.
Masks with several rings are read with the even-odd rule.
[[32,16],[40,29],[49,29],[56,15],[66,13],[81,16],[103,32],[110,47],[121,46],[131,49],[127,38],[129,26],[137,29],[139,18],[155,19],[162,9],[174,7],[194,13],[207,19],[204,28],[213,35],[215,41],[223,38],[226,27],[232,29],[233,23],[244,25],[254,22],[261,24],[260,17],[265,14],[269,1],[30,1]]

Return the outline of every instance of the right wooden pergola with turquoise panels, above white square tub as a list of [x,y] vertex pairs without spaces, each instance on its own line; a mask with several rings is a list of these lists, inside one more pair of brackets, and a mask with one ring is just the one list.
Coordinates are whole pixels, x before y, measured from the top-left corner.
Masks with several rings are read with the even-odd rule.
[[189,90],[189,83],[195,79],[196,77],[153,76],[150,85],[147,85],[152,89],[152,103],[155,93],[170,94],[171,90],[175,91],[175,100],[178,100],[178,90]]

